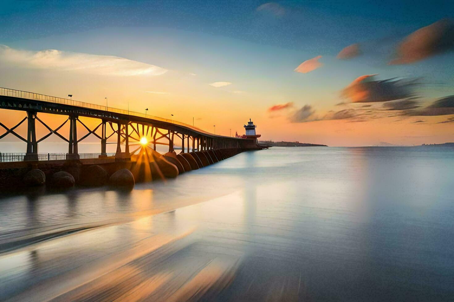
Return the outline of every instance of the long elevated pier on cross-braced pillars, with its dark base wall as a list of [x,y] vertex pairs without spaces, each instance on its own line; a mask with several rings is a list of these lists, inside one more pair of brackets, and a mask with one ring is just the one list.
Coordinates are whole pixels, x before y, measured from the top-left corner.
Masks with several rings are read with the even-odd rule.
[[[157,158],[163,156],[166,163],[175,165],[178,172],[182,173],[191,169],[191,164],[192,169],[202,168],[245,150],[266,148],[259,145],[255,137],[216,135],[176,120],[75,101],[72,98],[65,99],[9,88],[0,88],[0,109],[24,112],[24,118],[13,127],[6,126],[0,120],[0,126],[6,131],[0,135],[0,139],[12,134],[27,146],[22,153],[0,153],[0,186],[7,185],[7,179],[11,180],[14,169],[23,170],[21,173],[16,173],[19,174],[16,180],[18,182],[22,174],[32,168],[44,167],[54,172],[64,170],[66,167],[77,182],[80,171],[84,169],[83,166],[100,165],[109,174],[120,168],[132,170],[133,163],[143,162],[145,151],[147,162],[159,162]],[[46,124],[44,118],[40,117],[40,113],[64,115],[67,119],[58,127],[52,128]],[[79,117],[97,120],[94,123],[96,126],[90,128]],[[40,138],[36,134],[38,123],[44,125],[49,131]],[[27,125],[26,137],[15,131],[22,124]],[[63,133],[62,128],[66,124],[69,124],[69,130]],[[78,126],[86,129],[87,133],[83,136],[78,135]],[[39,143],[52,134],[68,144],[67,153],[39,153]],[[79,153],[78,144],[90,134],[99,139],[100,152]],[[115,153],[106,152],[107,141],[111,138],[116,139]],[[177,141],[181,142],[181,152],[178,157],[174,148]],[[168,146],[168,153],[157,153],[156,146],[159,144]],[[144,152],[141,152],[142,150]],[[197,163],[197,167],[194,163]]]

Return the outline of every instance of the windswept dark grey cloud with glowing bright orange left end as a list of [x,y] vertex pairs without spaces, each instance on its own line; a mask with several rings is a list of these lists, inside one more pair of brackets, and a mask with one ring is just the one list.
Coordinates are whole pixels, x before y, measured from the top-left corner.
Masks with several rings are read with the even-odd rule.
[[395,80],[395,78],[373,81],[377,74],[356,78],[341,91],[341,95],[353,103],[386,102],[415,97],[416,80]]

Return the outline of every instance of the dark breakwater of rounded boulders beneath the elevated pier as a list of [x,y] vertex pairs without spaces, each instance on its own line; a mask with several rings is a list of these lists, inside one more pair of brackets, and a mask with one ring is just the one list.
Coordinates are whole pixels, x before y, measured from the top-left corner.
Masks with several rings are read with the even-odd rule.
[[[157,181],[178,177],[181,173],[206,167],[243,151],[245,150],[241,148],[232,148],[160,154],[152,149],[143,148],[131,158],[104,157],[0,163],[0,187],[102,186],[108,183],[121,186],[123,182],[130,185],[131,177],[132,183]],[[125,170],[130,173],[124,174]]]

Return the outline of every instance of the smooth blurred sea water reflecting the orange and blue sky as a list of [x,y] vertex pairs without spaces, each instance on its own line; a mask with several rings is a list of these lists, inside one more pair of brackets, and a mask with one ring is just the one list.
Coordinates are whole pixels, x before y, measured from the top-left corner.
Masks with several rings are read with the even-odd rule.
[[454,149],[241,153],[131,192],[0,199],[0,300],[440,300]]

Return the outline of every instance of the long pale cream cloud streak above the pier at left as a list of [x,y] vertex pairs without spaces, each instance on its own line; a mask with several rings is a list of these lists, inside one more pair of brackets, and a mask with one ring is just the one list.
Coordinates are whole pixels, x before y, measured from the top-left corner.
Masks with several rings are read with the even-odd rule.
[[115,56],[71,53],[56,49],[28,51],[0,45],[0,62],[34,69],[77,71],[110,76],[159,76],[168,70]]

